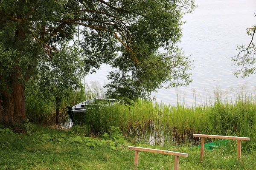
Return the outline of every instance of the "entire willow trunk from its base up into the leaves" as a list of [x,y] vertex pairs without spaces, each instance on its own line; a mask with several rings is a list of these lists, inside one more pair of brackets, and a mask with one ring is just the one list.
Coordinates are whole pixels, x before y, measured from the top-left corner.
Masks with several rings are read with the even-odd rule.
[[[22,64],[24,42],[26,40],[26,29],[24,27],[22,13],[17,15],[17,19],[21,22],[17,23],[15,36],[13,37],[13,44],[17,49],[17,53],[13,56],[13,71],[7,79],[8,87],[0,89],[0,124],[14,125],[21,123],[26,119],[25,110],[25,82],[23,79],[23,72],[20,65]],[[26,46],[26,45],[25,45]],[[1,66],[1,65],[0,65]],[[25,71],[23,69],[23,71]],[[27,78],[28,79],[28,78]],[[0,82],[1,83],[1,82]]]

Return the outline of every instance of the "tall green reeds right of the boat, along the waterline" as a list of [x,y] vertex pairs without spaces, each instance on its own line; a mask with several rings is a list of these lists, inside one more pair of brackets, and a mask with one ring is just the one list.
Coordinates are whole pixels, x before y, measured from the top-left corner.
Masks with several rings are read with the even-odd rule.
[[217,95],[212,104],[193,107],[138,100],[133,105],[115,105],[88,113],[91,122],[87,125],[90,133],[99,134],[118,126],[133,140],[151,136],[156,143],[197,143],[194,133],[251,137],[250,142],[244,142],[249,149],[256,147],[255,113],[256,104],[248,94],[238,95],[232,102]]

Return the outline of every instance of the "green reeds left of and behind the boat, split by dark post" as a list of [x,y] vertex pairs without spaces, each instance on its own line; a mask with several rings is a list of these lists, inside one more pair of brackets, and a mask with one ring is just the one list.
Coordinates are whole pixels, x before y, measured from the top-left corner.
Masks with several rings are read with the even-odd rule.
[[[37,81],[36,79],[32,79]],[[26,84],[26,114],[27,118],[34,123],[51,122],[55,116],[55,98],[46,98],[47,95],[41,94],[38,84],[30,80]],[[90,99],[90,88],[79,84],[76,91],[66,91],[60,104],[60,115],[66,116],[67,105],[76,105],[77,103]],[[50,95],[49,95],[50,96]],[[48,96],[48,97],[49,97]]]

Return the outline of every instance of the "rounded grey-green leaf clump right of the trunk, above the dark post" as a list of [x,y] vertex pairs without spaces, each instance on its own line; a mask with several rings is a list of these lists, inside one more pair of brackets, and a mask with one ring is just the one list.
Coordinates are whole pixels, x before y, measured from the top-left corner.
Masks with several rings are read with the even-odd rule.
[[[52,96],[62,99],[80,86],[83,73],[83,62],[79,58],[76,47],[62,47],[63,50],[52,52],[51,57],[45,57],[38,68],[38,74],[33,81],[38,84],[40,94],[45,99]],[[54,100],[55,101],[55,100]]]

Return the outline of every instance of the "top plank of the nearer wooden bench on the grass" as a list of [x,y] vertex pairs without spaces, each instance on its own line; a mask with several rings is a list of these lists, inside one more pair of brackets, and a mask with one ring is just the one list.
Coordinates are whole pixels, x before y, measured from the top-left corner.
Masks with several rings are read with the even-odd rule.
[[128,149],[143,151],[143,152],[162,153],[162,154],[174,155],[174,156],[183,156],[183,157],[188,157],[189,156],[189,154],[187,154],[187,153],[172,152],[172,151],[169,151],[169,150],[150,149],[150,148],[144,148],[144,147],[128,146]]

